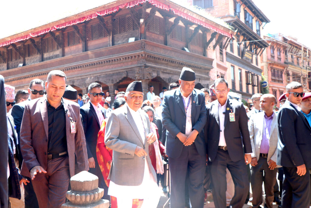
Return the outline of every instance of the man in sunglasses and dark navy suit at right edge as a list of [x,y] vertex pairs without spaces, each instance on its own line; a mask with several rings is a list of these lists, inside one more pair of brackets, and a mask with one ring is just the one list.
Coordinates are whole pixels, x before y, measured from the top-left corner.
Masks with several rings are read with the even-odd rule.
[[283,166],[284,172],[283,208],[310,206],[311,128],[298,106],[303,96],[299,82],[286,85],[287,99],[277,114],[280,139],[276,164]]

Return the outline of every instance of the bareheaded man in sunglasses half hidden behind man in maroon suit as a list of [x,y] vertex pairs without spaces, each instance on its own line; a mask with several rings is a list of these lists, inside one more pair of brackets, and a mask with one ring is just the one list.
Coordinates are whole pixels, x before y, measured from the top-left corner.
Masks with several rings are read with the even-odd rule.
[[[29,88],[28,88],[29,98],[28,100],[33,100],[37,98],[43,97],[45,90],[44,90],[44,81],[40,79],[33,79],[30,81]],[[16,125],[16,133],[18,136],[18,151],[21,152],[20,147],[20,131],[21,131],[21,121],[23,119],[24,109],[25,105],[28,101],[21,102],[19,104],[16,104],[13,106],[11,115],[14,119],[14,123]],[[21,161],[23,160],[23,157],[21,155]],[[25,176],[24,176],[25,177]],[[32,186],[31,180],[28,177],[27,178],[30,183],[25,186],[25,207],[26,208],[38,208],[38,200],[37,196],[35,195],[34,188]]]

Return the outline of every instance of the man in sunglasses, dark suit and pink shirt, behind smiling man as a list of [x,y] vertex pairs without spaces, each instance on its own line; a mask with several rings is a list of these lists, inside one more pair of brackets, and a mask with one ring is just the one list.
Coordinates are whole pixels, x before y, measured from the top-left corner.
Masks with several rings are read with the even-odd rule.
[[103,188],[104,199],[109,199],[108,187],[105,184],[103,174],[97,162],[96,143],[98,132],[103,120],[106,118],[106,109],[100,105],[100,101],[104,96],[102,87],[99,83],[91,83],[88,87],[90,101],[80,108],[80,113],[83,120],[83,128],[86,140],[87,156],[89,161],[89,172],[96,175],[99,179],[98,186]]

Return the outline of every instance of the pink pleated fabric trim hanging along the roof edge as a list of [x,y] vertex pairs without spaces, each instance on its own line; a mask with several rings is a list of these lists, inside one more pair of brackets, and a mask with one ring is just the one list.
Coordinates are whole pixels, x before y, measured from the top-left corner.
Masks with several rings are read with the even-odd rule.
[[81,22],[85,22],[85,21],[88,21],[88,20],[96,18],[98,15],[104,16],[104,15],[107,15],[107,14],[111,14],[111,13],[117,12],[119,9],[134,7],[134,6],[138,5],[138,4],[142,4],[142,3],[145,3],[147,1],[151,5],[154,5],[157,8],[164,9],[164,10],[167,10],[167,11],[171,10],[171,11],[174,12],[174,14],[176,14],[176,15],[178,15],[180,17],[183,17],[183,18],[189,20],[190,22],[193,22],[195,24],[201,25],[201,26],[206,27],[206,28],[208,28],[210,30],[216,31],[216,32],[220,33],[221,35],[224,35],[224,36],[232,38],[232,34],[230,34],[228,32],[225,32],[225,31],[223,31],[223,30],[221,30],[221,29],[219,29],[219,28],[217,28],[215,26],[207,24],[206,22],[203,22],[203,21],[201,21],[201,20],[199,20],[197,18],[194,18],[194,17],[192,17],[192,16],[190,16],[190,15],[188,15],[186,13],[183,13],[183,12],[177,10],[177,9],[174,9],[174,8],[170,7],[169,5],[161,3],[161,2],[159,2],[157,0],[134,0],[134,1],[130,1],[130,2],[121,4],[119,6],[115,6],[115,7],[109,8],[109,9],[102,10],[100,12],[95,12],[95,13],[87,15],[85,17],[80,17],[80,18],[77,18],[77,19],[74,19],[74,20],[71,20],[71,21],[68,21],[68,22],[64,22],[62,24],[55,25],[53,27],[49,27],[49,28],[46,28],[46,29],[43,29],[43,30],[40,30],[40,31],[36,31],[36,32],[30,33],[29,35],[21,36],[21,37],[18,37],[18,38],[9,40],[9,41],[2,42],[2,43],[0,43],[0,47],[1,46],[7,46],[7,45],[10,45],[12,43],[16,43],[18,41],[28,40],[31,37],[36,37],[36,36],[48,33],[49,31],[54,31],[54,30],[61,29],[61,28],[64,28],[64,27],[68,27],[68,26],[71,26],[71,25],[75,25],[75,24],[78,24],[78,23],[81,23]]

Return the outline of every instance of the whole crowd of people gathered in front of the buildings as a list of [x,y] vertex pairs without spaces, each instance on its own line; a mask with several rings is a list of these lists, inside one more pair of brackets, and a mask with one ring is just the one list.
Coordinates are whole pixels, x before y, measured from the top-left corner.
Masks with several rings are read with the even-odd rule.
[[157,207],[160,183],[172,208],[202,208],[207,191],[217,208],[259,207],[262,184],[264,207],[309,207],[311,93],[300,83],[276,111],[272,94],[254,94],[248,109],[223,78],[195,89],[187,67],[146,100],[139,81],[114,98],[99,83],[82,95],[66,81],[53,70],[15,92],[0,77],[1,207],[60,207],[81,171],[99,178],[112,208]]

